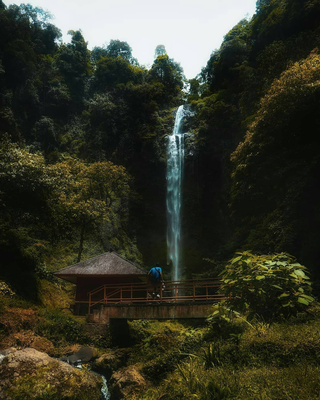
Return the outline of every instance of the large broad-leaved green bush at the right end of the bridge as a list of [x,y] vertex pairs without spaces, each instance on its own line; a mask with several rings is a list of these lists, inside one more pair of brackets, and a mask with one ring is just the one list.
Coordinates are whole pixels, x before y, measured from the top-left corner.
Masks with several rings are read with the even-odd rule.
[[[307,268],[290,254],[256,256],[247,251],[236,254],[220,274],[223,280],[220,292],[228,298],[224,303],[227,308],[288,316],[315,302]],[[215,315],[220,312],[216,310],[212,316]]]

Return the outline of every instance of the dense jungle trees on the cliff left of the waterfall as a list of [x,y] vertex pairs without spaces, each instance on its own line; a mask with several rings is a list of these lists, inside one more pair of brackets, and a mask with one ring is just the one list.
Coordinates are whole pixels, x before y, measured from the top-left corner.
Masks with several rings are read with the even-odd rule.
[[36,292],[39,268],[111,246],[141,264],[154,206],[164,241],[163,137],[184,96],[163,46],[147,70],[127,42],[89,51],[78,30],[61,43],[50,18],[0,2],[2,277],[24,294]]

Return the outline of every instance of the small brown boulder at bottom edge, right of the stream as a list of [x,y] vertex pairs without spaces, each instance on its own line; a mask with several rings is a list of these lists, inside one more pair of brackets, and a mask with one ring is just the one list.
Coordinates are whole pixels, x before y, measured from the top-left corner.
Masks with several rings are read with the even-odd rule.
[[111,398],[114,399],[140,398],[146,387],[146,381],[133,365],[112,374],[109,383]]

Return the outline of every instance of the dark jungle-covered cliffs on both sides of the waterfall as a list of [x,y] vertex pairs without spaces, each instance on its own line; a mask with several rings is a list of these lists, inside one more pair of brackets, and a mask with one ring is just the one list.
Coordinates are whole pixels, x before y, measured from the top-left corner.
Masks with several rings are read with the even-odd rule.
[[166,263],[165,137],[186,102],[185,274],[250,248],[318,278],[320,4],[256,7],[186,81],[163,45],[147,69],[127,42],[90,51],[78,30],[64,44],[48,12],[0,3],[0,249],[15,289],[110,246]]

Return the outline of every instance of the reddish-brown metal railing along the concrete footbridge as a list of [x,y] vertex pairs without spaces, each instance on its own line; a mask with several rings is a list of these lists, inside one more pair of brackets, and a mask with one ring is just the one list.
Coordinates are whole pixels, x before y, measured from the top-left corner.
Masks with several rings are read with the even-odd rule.
[[[208,302],[226,298],[223,294],[217,294],[222,281],[219,278],[194,279],[183,281],[159,282],[157,286],[152,283],[127,283],[102,285],[91,292],[89,296],[90,308],[96,304],[153,304],[153,303],[192,303]],[[159,297],[152,297],[152,293]],[[231,297],[231,294],[229,295]]]

